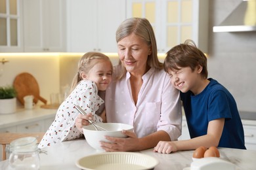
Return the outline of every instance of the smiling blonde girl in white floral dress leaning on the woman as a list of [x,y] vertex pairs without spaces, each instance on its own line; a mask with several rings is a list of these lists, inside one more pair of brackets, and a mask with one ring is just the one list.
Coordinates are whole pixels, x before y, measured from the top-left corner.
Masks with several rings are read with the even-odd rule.
[[75,127],[79,105],[95,122],[106,122],[104,113],[104,93],[112,80],[112,63],[99,52],[87,52],[78,63],[78,71],[72,82],[72,92],[58,108],[55,120],[45,133],[39,148],[77,139],[83,133]]

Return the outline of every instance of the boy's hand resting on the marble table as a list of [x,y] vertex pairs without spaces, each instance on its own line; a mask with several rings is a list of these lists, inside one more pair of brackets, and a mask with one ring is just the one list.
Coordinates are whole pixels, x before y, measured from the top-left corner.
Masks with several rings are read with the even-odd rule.
[[160,141],[154,148],[154,152],[161,154],[170,154],[171,152],[177,152],[177,150],[176,144],[170,141]]

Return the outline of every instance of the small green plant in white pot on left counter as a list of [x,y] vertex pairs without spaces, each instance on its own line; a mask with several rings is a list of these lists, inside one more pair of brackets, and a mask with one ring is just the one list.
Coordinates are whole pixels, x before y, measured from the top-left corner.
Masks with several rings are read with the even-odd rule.
[[17,92],[12,86],[0,87],[0,114],[9,114],[16,111]]

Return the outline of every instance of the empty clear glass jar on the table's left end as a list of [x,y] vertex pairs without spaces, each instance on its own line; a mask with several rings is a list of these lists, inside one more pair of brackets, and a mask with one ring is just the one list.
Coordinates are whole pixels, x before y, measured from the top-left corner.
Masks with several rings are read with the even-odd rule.
[[39,169],[40,158],[35,137],[22,137],[10,143],[9,165],[13,169]]

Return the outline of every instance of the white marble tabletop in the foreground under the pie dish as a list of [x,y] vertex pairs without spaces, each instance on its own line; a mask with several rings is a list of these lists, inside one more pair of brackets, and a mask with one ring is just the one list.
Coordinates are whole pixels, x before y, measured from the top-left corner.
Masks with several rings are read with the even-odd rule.
[[[83,156],[91,154],[97,154],[96,150],[91,148],[85,141],[85,139],[79,139],[75,141],[66,141],[55,146],[49,146],[43,150],[47,150],[47,154],[40,154],[41,167],[44,169],[79,169],[75,165],[75,161],[79,160]],[[219,148],[221,158],[228,160],[237,165],[237,169],[255,169],[256,168],[256,151],[253,150],[238,150],[230,148]],[[152,149],[141,151],[142,154],[148,154],[154,156],[160,161],[155,167],[155,170],[162,169],[183,169],[184,167],[190,167],[192,162],[193,150],[181,151],[171,154],[159,154],[153,152]],[[9,169],[8,160],[0,161],[0,169]]]

